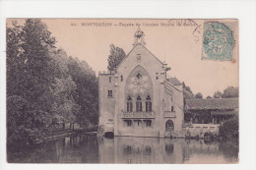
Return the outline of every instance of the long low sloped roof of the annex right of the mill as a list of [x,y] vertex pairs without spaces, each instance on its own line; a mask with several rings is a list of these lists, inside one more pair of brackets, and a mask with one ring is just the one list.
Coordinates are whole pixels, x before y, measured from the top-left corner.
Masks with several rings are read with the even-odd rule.
[[185,110],[234,109],[238,107],[238,98],[193,98],[186,99]]

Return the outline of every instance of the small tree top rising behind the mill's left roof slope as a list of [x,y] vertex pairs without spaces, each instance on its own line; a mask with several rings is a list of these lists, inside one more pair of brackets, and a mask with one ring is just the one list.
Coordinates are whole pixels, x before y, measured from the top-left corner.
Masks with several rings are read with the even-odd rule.
[[126,54],[122,48],[114,46],[114,44],[110,45],[110,55],[108,56],[108,66],[107,69],[109,71],[113,71],[118,64],[125,58]]

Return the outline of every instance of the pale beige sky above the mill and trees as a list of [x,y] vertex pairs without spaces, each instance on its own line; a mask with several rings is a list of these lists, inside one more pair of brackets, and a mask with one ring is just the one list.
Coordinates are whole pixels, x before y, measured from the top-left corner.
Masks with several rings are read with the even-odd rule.
[[[96,71],[107,70],[110,44],[124,49],[133,47],[139,27],[145,33],[146,47],[164,61],[170,77],[189,85],[194,93],[213,96],[227,86],[238,87],[238,32],[233,28],[233,61],[202,60],[204,20],[96,20],[42,19],[57,40],[56,46],[68,55],[85,60]],[[10,23],[10,21],[8,21]],[[7,23],[8,23],[7,22]],[[22,19],[18,20],[23,23]],[[234,21],[222,21],[233,23]],[[234,22],[235,23],[235,22]]]

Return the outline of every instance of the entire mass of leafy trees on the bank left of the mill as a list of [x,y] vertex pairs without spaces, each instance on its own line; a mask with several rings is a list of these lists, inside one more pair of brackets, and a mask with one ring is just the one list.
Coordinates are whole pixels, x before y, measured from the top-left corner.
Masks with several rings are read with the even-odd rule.
[[60,123],[96,125],[97,81],[86,62],[56,49],[37,19],[14,22],[6,39],[8,144],[40,140]]

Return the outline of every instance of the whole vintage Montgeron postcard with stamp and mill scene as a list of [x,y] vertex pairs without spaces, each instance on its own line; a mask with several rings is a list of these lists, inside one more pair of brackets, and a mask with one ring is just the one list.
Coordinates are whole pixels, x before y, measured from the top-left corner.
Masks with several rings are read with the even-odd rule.
[[238,42],[236,19],[7,19],[8,163],[238,163]]

